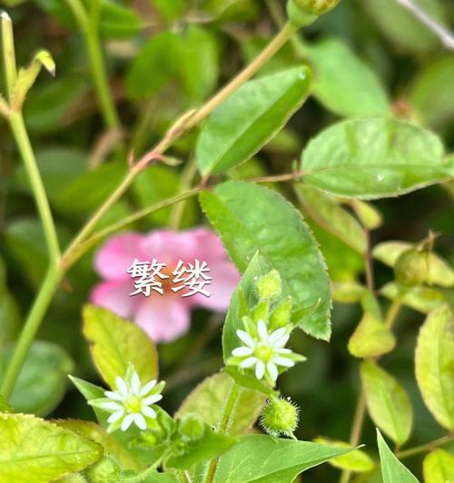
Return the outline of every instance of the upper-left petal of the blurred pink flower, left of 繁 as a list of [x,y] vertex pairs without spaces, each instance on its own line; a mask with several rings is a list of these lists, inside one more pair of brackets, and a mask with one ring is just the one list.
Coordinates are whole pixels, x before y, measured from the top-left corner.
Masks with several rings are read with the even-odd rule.
[[139,233],[123,233],[111,238],[97,252],[94,267],[107,280],[129,280],[126,271],[135,258],[148,261],[146,252],[141,250],[145,236]]

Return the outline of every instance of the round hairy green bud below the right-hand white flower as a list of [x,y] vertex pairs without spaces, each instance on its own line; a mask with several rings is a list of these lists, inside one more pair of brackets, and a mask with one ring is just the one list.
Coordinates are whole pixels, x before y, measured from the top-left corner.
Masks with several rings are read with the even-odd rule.
[[299,419],[300,408],[290,398],[272,398],[266,402],[260,422],[271,436],[292,436],[298,428]]

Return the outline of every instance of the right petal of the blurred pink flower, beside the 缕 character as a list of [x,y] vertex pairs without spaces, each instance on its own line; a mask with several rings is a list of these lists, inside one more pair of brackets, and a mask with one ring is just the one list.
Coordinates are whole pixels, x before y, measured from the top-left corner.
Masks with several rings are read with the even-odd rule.
[[238,282],[240,273],[236,270],[232,261],[221,261],[209,265],[210,271],[207,273],[212,277],[212,283],[205,285],[204,290],[210,291],[210,297],[205,297],[201,293],[188,297],[192,299],[194,305],[211,309],[212,311],[226,311]]

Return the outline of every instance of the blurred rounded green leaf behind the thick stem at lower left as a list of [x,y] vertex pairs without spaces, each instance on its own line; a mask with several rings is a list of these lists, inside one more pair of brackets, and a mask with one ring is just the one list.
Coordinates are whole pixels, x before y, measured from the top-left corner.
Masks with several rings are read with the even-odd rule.
[[[13,347],[0,353],[0,380],[13,355]],[[46,416],[64,397],[66,376],[74,362],[63,349],[51,342],[35,341],[25,359],[10,403],[16,412]]]

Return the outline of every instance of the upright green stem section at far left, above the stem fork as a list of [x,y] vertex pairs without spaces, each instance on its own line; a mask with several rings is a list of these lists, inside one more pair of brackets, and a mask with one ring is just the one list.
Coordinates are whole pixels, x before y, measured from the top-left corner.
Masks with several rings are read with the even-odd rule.
[[58,261],[60,259],[60,246],[55,230],[54,219],[45,194],[44,184],[37,167],[35,153],[25,128],[24,117],[22,113],[12,111],[8,116],[8,122],[32,186],[36,207],[43,225],[49,259],[51,262]]

